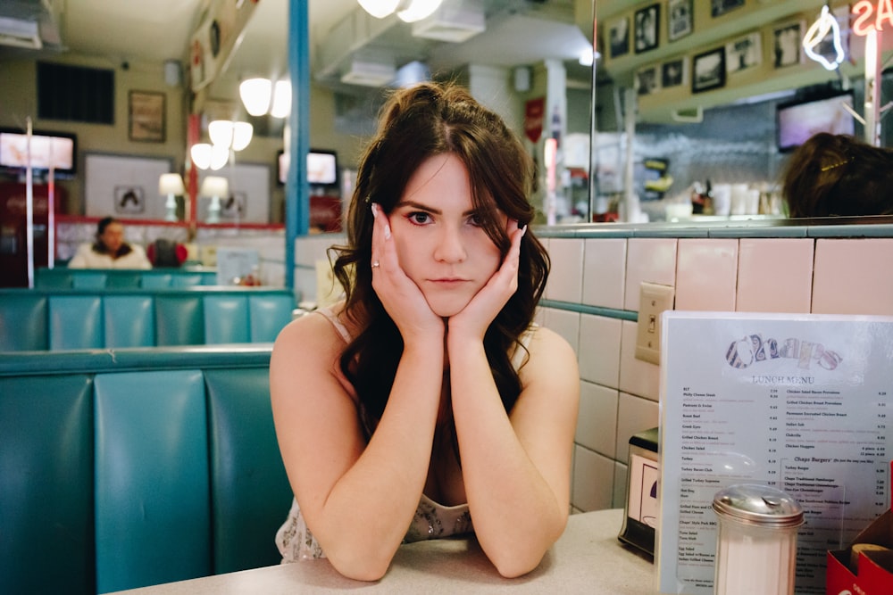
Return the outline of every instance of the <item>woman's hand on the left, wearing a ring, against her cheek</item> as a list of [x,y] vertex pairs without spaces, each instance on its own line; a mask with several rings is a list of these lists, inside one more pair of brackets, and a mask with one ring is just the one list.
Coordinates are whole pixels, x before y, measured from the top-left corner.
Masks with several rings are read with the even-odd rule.
[[[394,320],[404,342],[413,336],[436,334],[443,339],[444,322],[431,311],[418,285],[400,267],[388,216],[373,202],[372,289]],[[377,266],[376,266],[377,264]]]

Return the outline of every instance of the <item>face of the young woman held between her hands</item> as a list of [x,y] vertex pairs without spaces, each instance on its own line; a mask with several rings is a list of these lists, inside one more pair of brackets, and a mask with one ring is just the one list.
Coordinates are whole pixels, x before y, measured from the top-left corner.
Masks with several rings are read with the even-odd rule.
[[[507,224],[504,214],[497,217]],[[389,219],[400,266],[438,316],[463,310],[502,262],[480,227],[468,172],[453,154],[421,163]]]

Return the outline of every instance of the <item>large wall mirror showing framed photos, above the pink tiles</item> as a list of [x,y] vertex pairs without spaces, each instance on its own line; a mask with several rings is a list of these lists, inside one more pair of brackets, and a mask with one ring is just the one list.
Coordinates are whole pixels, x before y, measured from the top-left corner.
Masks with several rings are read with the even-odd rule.
[[826,130],[889,145],[871,102],[893,98],[883,74],[893,39],[866,70],[850,5],[822,15],[826,4],[594,0],[591,220],[785,219],[780,179],[805,138]]

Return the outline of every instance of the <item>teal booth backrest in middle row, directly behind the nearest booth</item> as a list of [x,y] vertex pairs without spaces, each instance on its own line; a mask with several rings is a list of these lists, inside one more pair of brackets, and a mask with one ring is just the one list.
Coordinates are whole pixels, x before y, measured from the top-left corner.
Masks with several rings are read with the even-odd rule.
[[5,289],[0,351],[268,343],[294,309],[287,289]]

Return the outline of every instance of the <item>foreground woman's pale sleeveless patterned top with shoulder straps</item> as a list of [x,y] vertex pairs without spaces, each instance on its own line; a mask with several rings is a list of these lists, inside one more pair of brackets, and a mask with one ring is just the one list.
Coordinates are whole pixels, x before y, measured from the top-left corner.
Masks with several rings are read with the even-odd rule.
[[[334,310],[324,308],[313,310],[313,312],[318,312],[327,318],[346,343],[352,341],[346,326],[338,320],[338,315],[335,314]],[[521,343],[525,348],[530,344],[530,337],[533,335],[535,328],[536,325],[531,326],[522,335]],[[512,365],[515,369],[521,367],[525,355],[525,349],[515,351],[512,358]],[[413,516],[413,522],[406,532],[404,543],[439,539],[451,535],[472,533],[472,531],[472,516],[469,512],[468,504],[444,506],[431,500],[425,494],[421,494],[419,508],[415,510],[415,516]],[[300,560],[325,558],[325,553],[322,551],[319,542],[313,537],[313,533],[310,533],[310,529],[307,527],[304,516],[301,514],[301,509],[297,506],[297,500],[295,499],[292,499],[288,518],[280,526],[279,531],[276,532],[276,546],[282,555],[283,564]]]

